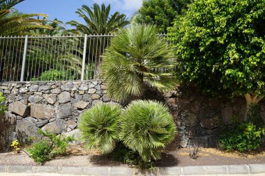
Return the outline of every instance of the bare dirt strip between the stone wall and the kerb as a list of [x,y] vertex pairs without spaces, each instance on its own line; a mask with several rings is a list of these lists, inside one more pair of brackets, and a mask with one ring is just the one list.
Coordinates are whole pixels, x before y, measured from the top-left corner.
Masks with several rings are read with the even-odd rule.
[[[84,151],[82,146],[70,147],[67,156],[56,157],[52,161],[47,161],[44,166],[64,166],[64,167],[89,167],[89,166],[126,166],[126,164],[113,161],[109,157],[100,155],[96,150]],[[199,157],[190,159],[188,149],[178,149],[162,154],[162,159],[156,161],[156,166],[211,166],[211,165],[231,165],[265,163],[265,148],[256,153],[241,154],[239,152],[222,152],[214,148],[202,148]],[[40,166],[40,164],[29,158],[24,152],[15,154],[14,152],[0,153],[0,166]]]

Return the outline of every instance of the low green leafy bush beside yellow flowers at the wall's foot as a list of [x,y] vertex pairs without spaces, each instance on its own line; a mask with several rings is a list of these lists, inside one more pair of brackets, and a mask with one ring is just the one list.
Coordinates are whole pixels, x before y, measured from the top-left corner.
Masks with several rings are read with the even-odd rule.
[[56,136],[49,132],[38,129],[38,133],[43,135],[42,141],[33,143],[31,148],[27,149],[29,156],[38,163],[44,163],[53,159],[57,155],[66,154],[69,143],[75,141],[74,136]]

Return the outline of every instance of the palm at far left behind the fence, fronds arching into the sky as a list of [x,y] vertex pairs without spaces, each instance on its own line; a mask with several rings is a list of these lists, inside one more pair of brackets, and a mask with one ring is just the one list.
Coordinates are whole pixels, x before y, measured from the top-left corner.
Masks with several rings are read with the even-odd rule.
[[[0,36],[32,35],[34,29],[52,29],[52,26],[43,25],[45,19],[34,17],[47,17],[45,14],[23,14],[13,9],[17,3],[24,0],[0,0]],[[24,45],[22,38],[1,38],[0,40],[0,79],[17,81],[20,74],[22,58],[17,58],[12,49]],[[19,52],[19,51],[17,51]],[[15,59],[13,59],[15,57]],[[5,79],[4,79],[5,77]],[[10,79],[12,77],[12,79]]]

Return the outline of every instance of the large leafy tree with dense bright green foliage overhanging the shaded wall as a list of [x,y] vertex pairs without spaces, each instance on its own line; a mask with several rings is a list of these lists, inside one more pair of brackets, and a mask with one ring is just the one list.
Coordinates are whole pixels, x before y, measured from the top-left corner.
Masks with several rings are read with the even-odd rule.
[[265,95],[265,1],[195,0],[169,28],[179,78],[212,95]]

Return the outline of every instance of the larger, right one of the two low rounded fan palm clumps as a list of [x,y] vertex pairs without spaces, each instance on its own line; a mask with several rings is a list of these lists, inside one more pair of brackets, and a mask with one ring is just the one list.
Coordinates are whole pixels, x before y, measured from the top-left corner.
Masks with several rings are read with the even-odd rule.
[[145,163],[160,159],[160,152],[175,135],[172,115],[160,102],[133,101],[121,115],[121,139],[126,147],[138,152]]

